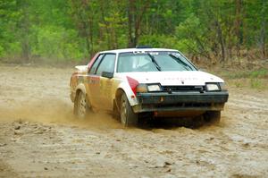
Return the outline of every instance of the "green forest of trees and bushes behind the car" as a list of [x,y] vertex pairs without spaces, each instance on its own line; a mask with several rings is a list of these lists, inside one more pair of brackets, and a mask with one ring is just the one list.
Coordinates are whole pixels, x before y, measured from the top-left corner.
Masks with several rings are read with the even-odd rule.
[[0,61],[82,63],[150,45],[192,61],[266,60],[268,0],[0,0]]

